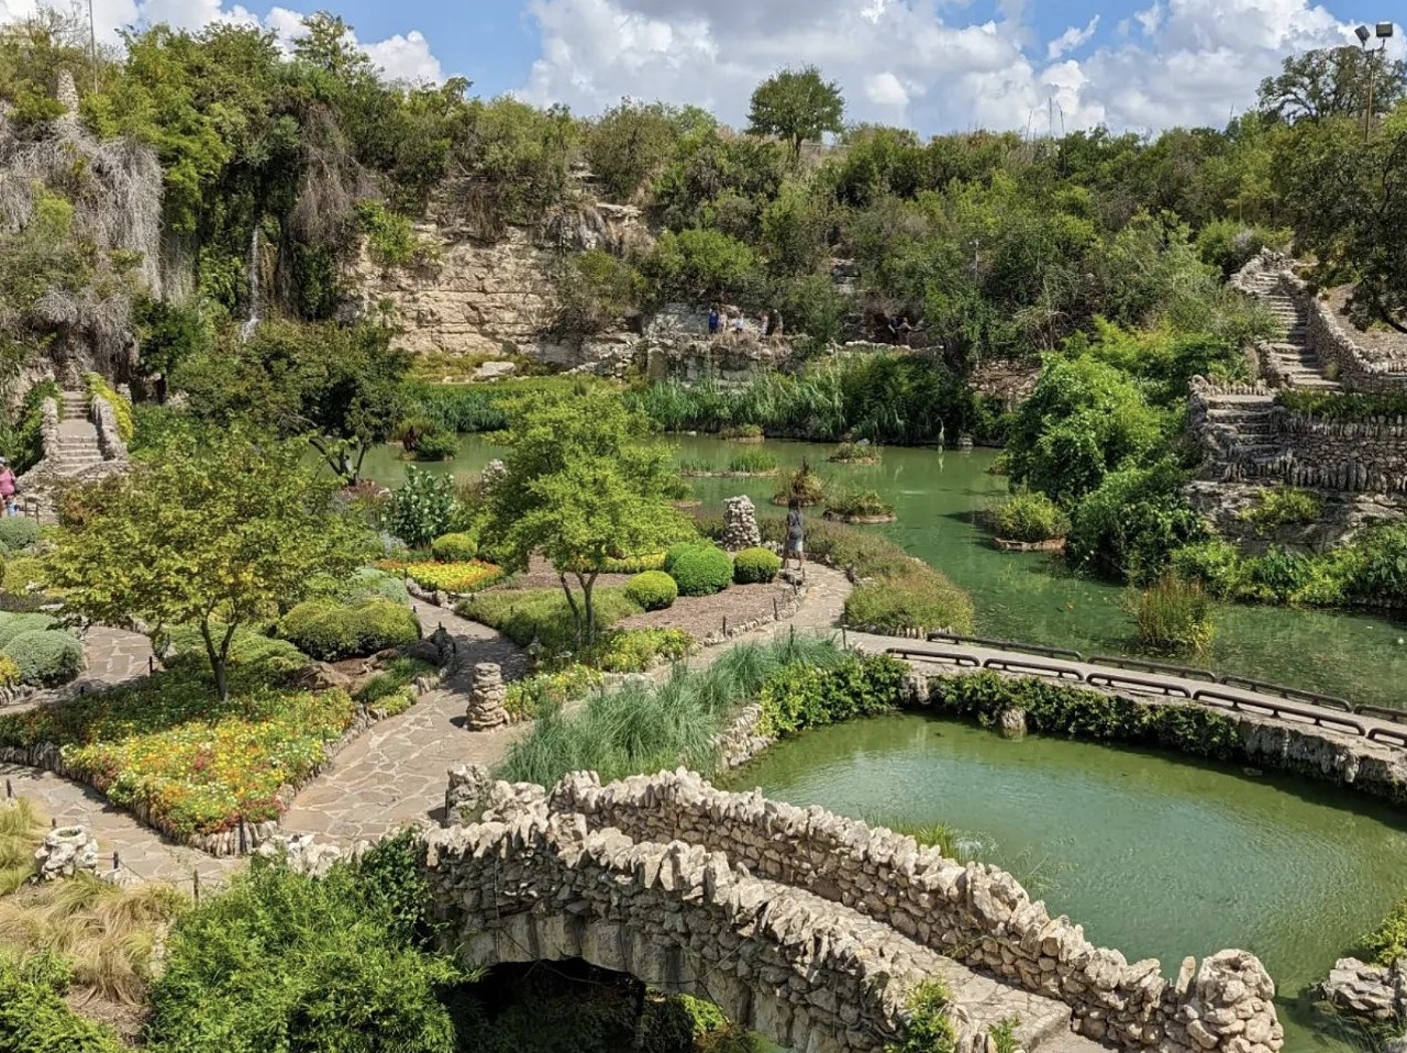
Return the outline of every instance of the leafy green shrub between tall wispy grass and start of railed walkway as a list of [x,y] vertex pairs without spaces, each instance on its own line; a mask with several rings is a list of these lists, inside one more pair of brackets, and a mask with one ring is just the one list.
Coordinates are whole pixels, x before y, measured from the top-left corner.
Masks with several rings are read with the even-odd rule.
[[847,656],[829,669],[792,664],[772,673],[758,698],[757,733],[796,735],[896,710],[909,666],[892,655]]

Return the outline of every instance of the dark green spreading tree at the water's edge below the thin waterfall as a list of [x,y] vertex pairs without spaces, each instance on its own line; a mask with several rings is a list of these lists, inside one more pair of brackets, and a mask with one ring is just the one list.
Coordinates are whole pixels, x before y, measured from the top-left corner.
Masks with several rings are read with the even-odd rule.
[[186,360],[174,387],[191,412],[218,425],[255,421],[284,438],[304,435],[346,483],[367,450],[404,418],[409,355],[380,325],[272,321],[248,343]]

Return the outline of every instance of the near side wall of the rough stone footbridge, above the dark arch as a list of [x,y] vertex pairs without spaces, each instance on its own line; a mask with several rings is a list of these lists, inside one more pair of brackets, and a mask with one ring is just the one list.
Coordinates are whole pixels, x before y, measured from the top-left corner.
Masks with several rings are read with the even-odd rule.
[[[422,835],[432,916],[469,960],[584,959],[716,1002],[805,1053],[868,1053],[946,963],[699,846],[636,843],[536,802]],[[968,1029],[971,1030],[971,1029]]]

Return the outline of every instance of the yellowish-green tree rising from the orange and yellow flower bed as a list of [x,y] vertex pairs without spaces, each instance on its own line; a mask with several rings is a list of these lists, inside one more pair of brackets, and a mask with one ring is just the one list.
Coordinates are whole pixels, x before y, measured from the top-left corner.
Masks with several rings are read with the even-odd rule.
[[177,434],[104,494],[48,556],[66,604],[106,625],[200,626],[215,693],[229,698],[241,625],[298,603],[318,574],[349,574],[364,532],[332,510],[332,483],[297,443],[235,429]]

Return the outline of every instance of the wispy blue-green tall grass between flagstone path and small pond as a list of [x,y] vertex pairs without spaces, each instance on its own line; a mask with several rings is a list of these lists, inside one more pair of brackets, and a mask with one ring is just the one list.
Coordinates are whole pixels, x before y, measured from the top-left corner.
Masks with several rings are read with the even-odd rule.
[[775,669],[829,666],[843,655],[833,641],[798,636],[740,645],[702,673],[675,666],[660,684],[626,684],[591,697],[580,712],[540,717],[509,749],[498,777],[552,786],[570,771],[597,771],[606,781],[678,764],[712,773],[719,732]]

